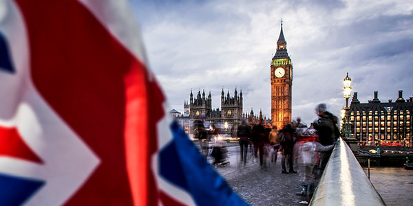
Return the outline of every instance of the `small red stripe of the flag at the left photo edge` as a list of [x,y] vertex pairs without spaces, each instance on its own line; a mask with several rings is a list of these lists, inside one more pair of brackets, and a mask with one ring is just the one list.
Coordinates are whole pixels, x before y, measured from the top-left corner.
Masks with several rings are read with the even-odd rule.
[[0,156],[9,156],[36,163],[43,163],[41,159],[25,144],[17,128],[0,126]]

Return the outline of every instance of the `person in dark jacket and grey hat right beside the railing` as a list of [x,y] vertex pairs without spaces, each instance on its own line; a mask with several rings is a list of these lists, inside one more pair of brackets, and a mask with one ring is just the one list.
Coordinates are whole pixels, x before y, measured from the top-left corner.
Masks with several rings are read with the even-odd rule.
[[[323,146],[332,145],[340,136],[339,128],[337,128],[337,117],[327,111],[327,105],[324,103],[318,104],[315,107],[315,112],[318,115],[318,119],[313,123],[313,127],[317,130],[320,144]],[[320,152],[319,168],[321,174],[326,168],[331,152]]]

